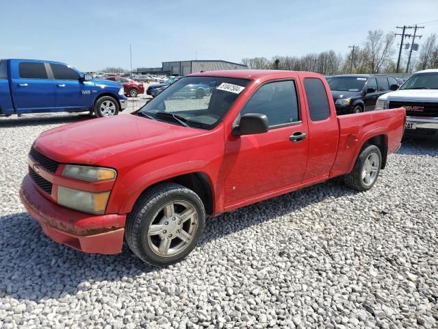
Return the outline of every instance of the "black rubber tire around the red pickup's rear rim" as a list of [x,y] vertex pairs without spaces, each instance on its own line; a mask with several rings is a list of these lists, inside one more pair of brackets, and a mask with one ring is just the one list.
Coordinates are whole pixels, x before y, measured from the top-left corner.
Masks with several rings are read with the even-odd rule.
[[[362,174],[365,170],[364,167],[367,165],[367,159],[369,159],[372,154],[376,154],[376,156],[378,157],[378,166],[375,166],[377,167],[375,178],[372,180],[372,182],[370,182],[370,184],[367,184],[362,177]],[[357,157],[355,167],[353,167],[352,171],[344,176],[345,184],[348,187],[354,188],[357,191],[368,191],[370,188],[372,188],[372,186],[374,186],[374,184],[376,184],[378,174],[381,171],[381,164],[382,154],[380,149],[378,149],[376,145],[368,145],[361,151],[361,153]]]

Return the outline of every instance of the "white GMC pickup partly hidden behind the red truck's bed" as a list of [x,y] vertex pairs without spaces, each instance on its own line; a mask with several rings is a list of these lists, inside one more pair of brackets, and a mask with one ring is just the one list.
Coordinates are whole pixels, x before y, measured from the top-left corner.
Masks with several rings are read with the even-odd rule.
[[438,69],[414,73],[398,90],[378,97],[375,110],[401,107],[407,132],[438,133]]

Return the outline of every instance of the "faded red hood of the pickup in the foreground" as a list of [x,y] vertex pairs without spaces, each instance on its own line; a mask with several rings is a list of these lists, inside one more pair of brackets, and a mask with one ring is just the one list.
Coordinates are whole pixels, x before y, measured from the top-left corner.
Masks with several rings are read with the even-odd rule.
[[134,149],[165,145],[204,132],[123,114],[47,130],[36,139],[34,147],[57,162],[97,164],[99,160],[122,156]]

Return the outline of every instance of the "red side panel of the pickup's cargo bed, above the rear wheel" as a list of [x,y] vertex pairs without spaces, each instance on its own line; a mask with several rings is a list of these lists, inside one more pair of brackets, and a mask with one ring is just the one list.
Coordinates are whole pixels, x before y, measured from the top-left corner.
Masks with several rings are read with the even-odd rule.
[[396,151],[402,140],[406,111],[404,108],[378,110],[337,117],[339,143],[331,176],[352,170],[359,151],[370,138],[384,138],[388,154]]

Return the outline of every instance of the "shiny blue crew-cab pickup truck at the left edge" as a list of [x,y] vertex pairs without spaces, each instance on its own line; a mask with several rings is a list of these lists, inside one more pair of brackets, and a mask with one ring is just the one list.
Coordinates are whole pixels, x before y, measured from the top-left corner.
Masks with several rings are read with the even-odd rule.
[[0,60],[0,115],[84,112],[97,117],[127,107],[123,86],[60,62]]

